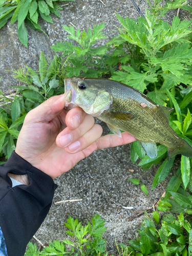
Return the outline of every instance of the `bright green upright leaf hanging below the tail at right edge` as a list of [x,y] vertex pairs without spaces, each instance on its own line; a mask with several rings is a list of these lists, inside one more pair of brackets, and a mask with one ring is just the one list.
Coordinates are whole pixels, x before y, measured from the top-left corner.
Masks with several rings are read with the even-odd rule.
[[185,156],[181,156],[181,175],[184,188],[186,189],[190,179],[190,161]]

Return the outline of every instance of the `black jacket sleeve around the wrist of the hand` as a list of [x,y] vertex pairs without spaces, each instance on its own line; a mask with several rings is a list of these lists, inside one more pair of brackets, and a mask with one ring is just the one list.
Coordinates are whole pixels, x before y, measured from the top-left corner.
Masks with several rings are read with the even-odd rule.
[[[28,174],[29,185],[12,188],[8,173]],[[8,256],[23,256],[51,207],[57,185],[53,179],[33,167],[15,152],[0,165],[0,227]]]

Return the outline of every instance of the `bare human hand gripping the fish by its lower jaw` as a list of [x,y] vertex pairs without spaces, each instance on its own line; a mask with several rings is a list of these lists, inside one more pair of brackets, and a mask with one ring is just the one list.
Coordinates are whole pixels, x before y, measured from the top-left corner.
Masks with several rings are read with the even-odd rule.
[[92,116],[80,108],[63,110],[64,97],[51,97],[27,114],[15,150],[53,179],[96,150],[136,140],[126,132],[122,138],[114,134],[100,137],[102,127]]

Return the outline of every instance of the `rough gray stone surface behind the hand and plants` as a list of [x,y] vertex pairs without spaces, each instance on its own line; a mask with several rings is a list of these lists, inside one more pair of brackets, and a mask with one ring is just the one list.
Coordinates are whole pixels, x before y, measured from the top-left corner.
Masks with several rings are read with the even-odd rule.
[[[147,7],[146,1],[136,1],[141,11],[144,13]],[[111,38],[118,32],[109,33],[115,30],[115,26],[120,26],[114,13],[121,16],[136,18],[139,13],[133,6],[131,0],[103,0],[103,5],[99,0],[76,0],[76,2],[60,2],[63,10],[60,11],[61,18],[52,15],[54,24],[49,24],[40,20],[42,29],[49,35],[49,39],[42,32],[32,30],[27,26],[29,34],[28,48],[20,44],[17,37],[17,24],[10,25],[10,21],[0,30],[0,89],[4,92],[9,90],[8,86],[18,84],[5,70],[14,70],[19,67],[24,68],[25,63],[35,70],[38,70],[38,60],[40,52],[53,57],[51,46],[56,41],[67,39],[67,32],[61,25],[75,25],[76,29],[87,30],[94,25],[105,22],[104,34]],[[163,4],[165,1],[163,1]],[[177,10],[169,12],[166,20],[170,23],[176,15]],[[188,13],[180,10],[181,18],[188,16]],[[105,44],[107,39],[100,41]],[[106,125],[104,134],[109,132]],[[117,162],[116,162],[117,161]],[[134,173],[129,172],[134,169]],[[136,230],[139,228],[143,217],[133,221],[127,219],[134,215],[132,211],[144,210],[151,207],[163,194],[167,182],[151,191],[153,178],[157,167],[152,167],[147,173],[143,173],[137,164],[133,164],[130,159],[130,145],[100,150],[93,153],[87,159],[80,161],[70,172],[57,178],[58,184],[54,196],[54,202],[67,199],[82,199],[80,202],[71,202],[55,205],[53,203],[49,215],[36,233],[36,237],[46,243],[53,239],[64,240],[68,238],[65,233],[63,223],[71,215],[82,220],[86,224],[87,220],[98,212],[106,220],[108,227],[105,238],[107,249],[110,253],[116,253],[115,238],[117,242],[126,243],[127,240],[135,238]],[[142,193],[140,185],[134,185],[127,178],[138,178],[141,184],[145,184],[150,197]],[[123,209],[122,206],[133,206],[133,210]],[[34,240],[32,240],[34,242]]]

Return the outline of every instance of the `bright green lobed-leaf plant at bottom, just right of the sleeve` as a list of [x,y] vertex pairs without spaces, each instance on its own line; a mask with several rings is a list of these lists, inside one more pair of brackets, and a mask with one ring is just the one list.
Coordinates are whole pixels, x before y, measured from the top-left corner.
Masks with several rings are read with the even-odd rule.
[[[104,223],[105,221],[98,214],[92,218],[92,223],[88,221],[86,226],[82,226],[78,219],[74,220],[70,216],[67,223],[65,223],[65,226],[69,229],[66,233],[74,237],[75,242],[68,239],[62,242],[54,240],[41,252],[36,249],[35,245],[29,243],[29,249],[25,255],[103,255],[105,252],[105,240],[102,239],[102,233],[106,231]],[[69,251],[66,251],[66,245],[69,245]]]

